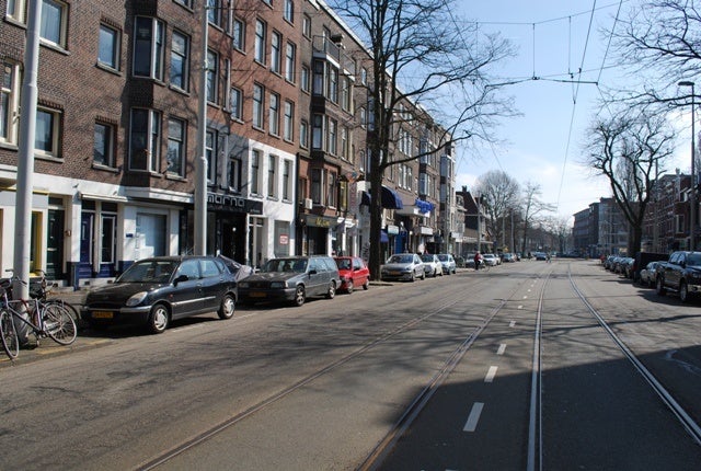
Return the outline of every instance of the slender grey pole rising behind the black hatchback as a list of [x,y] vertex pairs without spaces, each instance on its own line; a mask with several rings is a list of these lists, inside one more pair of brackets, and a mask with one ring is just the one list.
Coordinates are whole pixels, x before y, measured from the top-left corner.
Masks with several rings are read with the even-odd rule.
[[195,255],[205,255],[207,250],[207,43],[209,22],[207,1],[202,2],[202,73],[199,76],[199,102],[197,110],[197,161],[195,162]]

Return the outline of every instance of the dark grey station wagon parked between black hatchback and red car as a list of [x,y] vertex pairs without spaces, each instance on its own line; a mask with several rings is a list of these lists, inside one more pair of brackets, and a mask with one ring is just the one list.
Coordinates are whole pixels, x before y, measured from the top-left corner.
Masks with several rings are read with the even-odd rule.
[[333,299],[341,286],[336,262],[327,255],[271,259],[239,284],[241,302],[289,301],[302,306],[310,296]]

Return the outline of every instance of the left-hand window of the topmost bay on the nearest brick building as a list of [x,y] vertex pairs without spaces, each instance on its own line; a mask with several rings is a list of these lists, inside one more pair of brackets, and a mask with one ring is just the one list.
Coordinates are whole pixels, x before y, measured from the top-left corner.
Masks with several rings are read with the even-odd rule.
[[163,23],[137,16],[134,30],[134,74],[162,80]]

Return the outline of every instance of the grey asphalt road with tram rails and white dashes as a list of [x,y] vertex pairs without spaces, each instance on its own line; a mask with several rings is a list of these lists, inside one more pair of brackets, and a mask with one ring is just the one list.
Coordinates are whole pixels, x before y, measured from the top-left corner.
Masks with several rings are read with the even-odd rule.
[[0,468],[699,469],[575,286],[701,423],[701,301],[525,261],[44,341],[0,361]]

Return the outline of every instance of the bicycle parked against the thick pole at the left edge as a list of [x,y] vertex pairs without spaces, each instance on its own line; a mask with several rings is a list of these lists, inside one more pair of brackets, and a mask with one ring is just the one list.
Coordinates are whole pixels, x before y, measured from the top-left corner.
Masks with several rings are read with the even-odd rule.
[[[15,280],[27,286],[26,282],[16,276],[12,276],[9,283]],[[24,322],[34,333],[37,345],[41,338],[47,336],[60,345],[76,342],[78,329],[68,309],[59,302],[45,303],[41,298],[9,299],[9,288],[8,280],[4,280],[4,286],[0,285],[0,341],[10,359],[20,354],[15,320]]]

